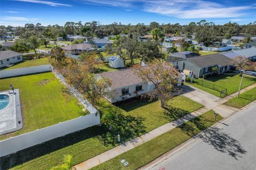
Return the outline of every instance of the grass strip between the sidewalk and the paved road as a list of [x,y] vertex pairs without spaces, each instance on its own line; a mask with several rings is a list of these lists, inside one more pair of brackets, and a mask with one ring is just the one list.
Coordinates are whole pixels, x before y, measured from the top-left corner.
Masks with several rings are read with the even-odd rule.
[[[218,116],[217,121],[222,117]],[[165,152],[177,147],[179,144],[187,141],[194,135],[203,131],[207,127],[216,123],[214,112],[212,110],[205,114],[186,122],[185,124],[172,129],[146,143],[135,147],[134,149],[122,153],[121,155],[106,161],[94,168],[93,170],[102,169],[138,169],[157,157],[163,155]],[[125,159],[129,165],[124,166],[121,160]]]

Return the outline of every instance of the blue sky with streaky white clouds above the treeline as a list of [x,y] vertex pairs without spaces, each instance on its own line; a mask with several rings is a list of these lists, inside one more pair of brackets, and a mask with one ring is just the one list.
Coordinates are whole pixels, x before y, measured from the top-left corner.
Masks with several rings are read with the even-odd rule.
[[219,25],[254,22],[256,0],[0,0],[0,25],[5,26],[93,20],[101,24],[148,25],[156,21],[185,25],[202,19]]

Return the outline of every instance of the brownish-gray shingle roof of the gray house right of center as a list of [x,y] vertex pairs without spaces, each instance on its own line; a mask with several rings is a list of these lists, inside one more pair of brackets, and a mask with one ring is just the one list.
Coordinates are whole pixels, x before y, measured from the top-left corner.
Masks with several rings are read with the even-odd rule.
[[198,67],[201,67],[201,68],[215,66],[215,65],[227,66],[233,62],[232,59],[229,59],[227,56],[222,55],[221,53],[187,58],[187,60],[196,64]]

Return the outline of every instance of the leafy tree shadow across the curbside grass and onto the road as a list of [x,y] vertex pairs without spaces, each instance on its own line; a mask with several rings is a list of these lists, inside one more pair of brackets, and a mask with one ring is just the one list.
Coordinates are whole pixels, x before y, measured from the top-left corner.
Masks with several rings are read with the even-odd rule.
[[[236,160],[238,160],[238,157],[241,158],[241,155],[247,152],[242,148],[239,141],[231,137],[228,133],[223,132],[221,128],[210,127],[206,129],[209,125],[198,117],[194,118],[190,122],[191,123],[189,124],[179,126],[187,135],[192,137],[200,131],[205,130],[204,134],[198,134],[196,137],[199,137],[205,143],[212,145],[214,149],[222,153],[228,153],[228,155],[234,157]],[[195,127],[197,130],[195,130]]]

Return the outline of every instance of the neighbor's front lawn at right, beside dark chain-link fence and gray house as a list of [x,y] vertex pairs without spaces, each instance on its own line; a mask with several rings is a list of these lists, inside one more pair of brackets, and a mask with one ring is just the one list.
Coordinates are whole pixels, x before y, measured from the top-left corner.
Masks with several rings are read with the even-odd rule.
[[[206,79],[204,79],[204,81],[221,86],[223,88],[227,88],[227,94],[229,95],[229,94],[233,94],[238,91],[238,88],[239,88],[239,85],[241,82],[241,78],[242,77],[239,75],[214,75],[212,77],[207,77]],[[242,88],[250,86],[254,83],[256,83],[255,77],[245,75],[243,84],[242,84]],[[195,83],[189,83],[189,85],[195,86],[195,87],[197,87],[203,91],[206,91],[208,93],[211,93],[213,95],[220,96],[220,92],[214,91],[211,88],[207,88],[207,87],[195,84]]]

